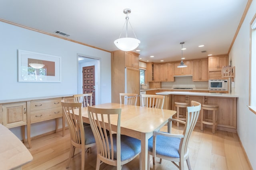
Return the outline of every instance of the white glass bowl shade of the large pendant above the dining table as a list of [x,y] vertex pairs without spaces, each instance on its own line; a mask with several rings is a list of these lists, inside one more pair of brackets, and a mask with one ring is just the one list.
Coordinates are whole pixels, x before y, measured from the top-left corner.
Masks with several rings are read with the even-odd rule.
[[119,38],[114,41],[116,47],[122,51],[132,51],[140,45],[140,40],[136,38]]

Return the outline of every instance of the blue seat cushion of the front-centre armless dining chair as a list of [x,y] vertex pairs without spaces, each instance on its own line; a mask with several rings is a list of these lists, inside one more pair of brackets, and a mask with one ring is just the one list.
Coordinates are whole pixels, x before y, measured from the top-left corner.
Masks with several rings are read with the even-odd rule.
[[[114,159],[116,159],[116,134],[113,134]],[[109,139],[109,138],[108,138]],[[108,140],[110,142],[110,139]],[[121,161],[132,158],[141,151],[140,140],[126,135],[121,135]],[[111,147],[111,146],[110,146]],[[111,152],[111,150],[110,150]]]

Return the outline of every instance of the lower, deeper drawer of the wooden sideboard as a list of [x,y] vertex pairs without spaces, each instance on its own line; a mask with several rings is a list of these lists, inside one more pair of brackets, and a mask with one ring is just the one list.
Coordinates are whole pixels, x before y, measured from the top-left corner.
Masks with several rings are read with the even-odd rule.
[[31,123],[62,117],[62,107],[31,111]]

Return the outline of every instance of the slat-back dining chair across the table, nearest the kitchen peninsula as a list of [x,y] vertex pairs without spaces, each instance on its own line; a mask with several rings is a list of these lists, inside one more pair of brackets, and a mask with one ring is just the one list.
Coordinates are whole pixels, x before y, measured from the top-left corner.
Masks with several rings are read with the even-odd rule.
[[142,94],[142,106],[144,107],[144,98],[146,98],[146,107],[162,109],[164,107],[164,96],[154,94]]

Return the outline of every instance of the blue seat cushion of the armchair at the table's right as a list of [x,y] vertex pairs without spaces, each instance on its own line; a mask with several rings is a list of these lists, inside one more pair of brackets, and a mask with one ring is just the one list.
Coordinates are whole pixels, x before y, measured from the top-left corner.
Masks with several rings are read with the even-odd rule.
[[[156,154],[173,158],[180,158],[179,147],[180,138],[156,135]],[[152,150],[153,137],[148,139],[148,151],[152,152]]]

